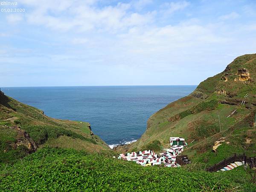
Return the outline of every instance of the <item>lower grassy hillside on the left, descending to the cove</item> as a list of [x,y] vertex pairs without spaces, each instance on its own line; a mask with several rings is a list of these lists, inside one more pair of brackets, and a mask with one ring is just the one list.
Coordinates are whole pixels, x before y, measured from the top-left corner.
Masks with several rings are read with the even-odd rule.
[[14,149],[11,146],[17,139],[17,132],[3,125],[21,126],[40,146],[84,149],[91,152],[110,149],[98,136],[91,134],[89,123],[53,119],[45,116],[41,110],[0,94],[0,163],[24,157],[27,152],[25,148]]

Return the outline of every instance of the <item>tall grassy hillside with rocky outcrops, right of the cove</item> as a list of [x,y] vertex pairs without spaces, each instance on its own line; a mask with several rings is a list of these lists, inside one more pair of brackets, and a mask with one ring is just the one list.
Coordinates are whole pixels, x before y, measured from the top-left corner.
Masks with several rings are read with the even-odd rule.
[[[169,146],[169,137],[184,137],[188,143],[195,140],[184,153],[189,154],[192,160],[204,162],[202,159],[212,159],[212,156],[216,155],[211,152],[213,143],[220,137],[228,137],[227,140],[230,140],[230,144],[227,144],[226,151],[228,152],[220,152],[220,157],[218,158],[217,154],[217,158],[208,164],[217,163],[224,153],[227,156],[235,152],[247,152],[250,149],[248,154],[255,155],[251,151],[251,147],[244,147],[246,138],[243,134],[236,135],[239,139],[231,139],[234,129],[250,128],[250,123],[253,122],[252,113],[255,110],[255,105],[246,108],[245,106],[218,103],[219,100],[230,101],[230,99],[237,99],[239,103],[239,100],[243,99],[246,93],[249,93],[247,102],[256,103],[256,81],[249,84],[234,81],[235,78],[238,79],[236,72],[241,67],[248,69],[250,76],[256,80],[256,54],[242,55],[236,58],[228,65],[224,73],[201,82],[189,96],[167,105],[152,115],[148,119],[147,130],[136,143],[129,147],[129,150],[142,149],[154,140],[159,140],[163,148]],[[226,73],[230,76],[228,76],[228,81],[224,82],[222,75]],[[216,90],[225,90],[227,96],[214,93]],[[198,110],[198,108],[202,109],[201,106],[204,106],[201,105],[203,102],[215,100],[217,104],[213,108]],[[235,109],[237,109],[237,113],[227,118]],[[221,121],[221,132],[218,116],[220,116]],[[248,116],[251,117],[248,119]],[[251,137],[253,137],[253,140],[250,145],[253,147],[256,143],[255,136]],[[225,145],[222,147],[225,147]],[[228,150],[231,148],[233,150]],[[207,154],[204,154],[205,152]],[[207,162],[207,160],[205,161]]]

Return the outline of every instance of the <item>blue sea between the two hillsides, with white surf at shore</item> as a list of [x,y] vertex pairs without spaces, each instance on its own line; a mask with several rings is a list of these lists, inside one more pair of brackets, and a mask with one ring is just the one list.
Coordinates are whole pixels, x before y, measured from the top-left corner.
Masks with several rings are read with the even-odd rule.
[[108,145],[128,144],[144,133],[148,118],[196,86],[3,87],[6,95],[47,116],[90,122]]

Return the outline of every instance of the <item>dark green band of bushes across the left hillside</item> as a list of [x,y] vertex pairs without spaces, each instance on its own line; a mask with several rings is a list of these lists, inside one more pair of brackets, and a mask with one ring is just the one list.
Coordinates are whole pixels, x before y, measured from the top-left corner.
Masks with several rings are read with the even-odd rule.
[[91,143],[97,144],[94,140],[83,137],[71,130],[67,130],[56,126],[43,126],[43,125],[31,125],[23,127],[30,135],[30,137],[39,145],[44,144],[48,139],[57,139],[61,135],[67,137],[78,138],[81,140],[87,140]]

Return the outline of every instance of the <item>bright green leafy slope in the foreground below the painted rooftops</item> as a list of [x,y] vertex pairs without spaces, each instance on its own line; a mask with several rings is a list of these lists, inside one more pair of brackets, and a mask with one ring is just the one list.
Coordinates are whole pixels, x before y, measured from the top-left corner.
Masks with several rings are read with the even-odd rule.
[[1,191],[254,191],[249,179],[243,169],[209,173],[143,167],[108,154],[54,148],[0,168]]

